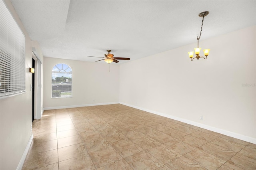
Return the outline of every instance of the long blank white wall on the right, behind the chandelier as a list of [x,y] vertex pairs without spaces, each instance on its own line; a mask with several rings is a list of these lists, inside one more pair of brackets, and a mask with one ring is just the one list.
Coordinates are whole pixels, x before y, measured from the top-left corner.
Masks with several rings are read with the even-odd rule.
[[120,103],[256,143],[256,26],[200,41],[206,60],[196,46],[120,65]]

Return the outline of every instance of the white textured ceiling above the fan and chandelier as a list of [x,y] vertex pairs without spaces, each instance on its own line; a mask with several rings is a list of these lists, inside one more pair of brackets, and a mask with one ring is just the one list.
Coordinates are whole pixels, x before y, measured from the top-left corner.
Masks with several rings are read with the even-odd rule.
[[[107,49],[131,60],[256,25],[256,1],[11,0],[45,57],[96,61]],[[190,50],[190,49],[188,49]],[[187,55],[184,51],[184,55]],[[104,62],[104,61],[99,61]],[[127,62],[121,60],[120,63]],[[114,63],[117,64],[117,63]]]

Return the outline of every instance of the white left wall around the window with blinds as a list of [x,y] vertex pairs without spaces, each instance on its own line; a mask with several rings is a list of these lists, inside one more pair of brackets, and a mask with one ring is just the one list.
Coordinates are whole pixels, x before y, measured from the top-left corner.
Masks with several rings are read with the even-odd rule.
[[22,166],[22,156],[26,156],[23,154],[32,138],[32,73],[29,73],[29,67],[32,67],[32,42],[11,2],[5,3],[26,36],[26,93],[0,100],[0,169],[14,170]]

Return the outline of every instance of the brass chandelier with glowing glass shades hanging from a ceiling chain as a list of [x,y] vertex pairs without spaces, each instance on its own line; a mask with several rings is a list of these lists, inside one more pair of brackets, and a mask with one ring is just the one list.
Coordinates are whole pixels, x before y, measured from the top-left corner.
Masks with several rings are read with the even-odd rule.
[[[201,58],[201,56],[199,55],[201,48],[199,48],[198,44],[199,44],[199,39],[200,39],[201,34],[202,34],[202,28],[203,28],[204,17],[207,16],[208,14],[209,14],[208,11],[201,12],[200,14],[198,14],[198,16],[203,17],[203,20],[202,20],[202,26],[201,26],[200,36],[197,36],[197,38],[196,38],[196,39],[197,39],[197,48],[194,48],[195,54],[196,54],[196,57],[194,57],[194,58],[196,58],[196,59],[200,59],[200,58]],[[204,55],[205,55],[205,58],[204,58],[204,56],[203,56],[203,58],[206,59],[207,56],[209,55],[210,49],[204,49],[203,51],[204,51]],[[194,51],[188,52],[188,55],[189,55],[191,61],[193,61],[193,59],[194,59],[194,58],[193,58]]]

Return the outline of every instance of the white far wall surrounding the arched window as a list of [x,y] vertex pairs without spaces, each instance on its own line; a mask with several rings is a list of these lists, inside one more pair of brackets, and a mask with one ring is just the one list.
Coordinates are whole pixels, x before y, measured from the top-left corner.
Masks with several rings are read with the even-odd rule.
[[[72,98],[51,98],[52,68],[65,63],[72,69]],[[119,102],[119,65],[44,57],[44,109],[81,107]]]

